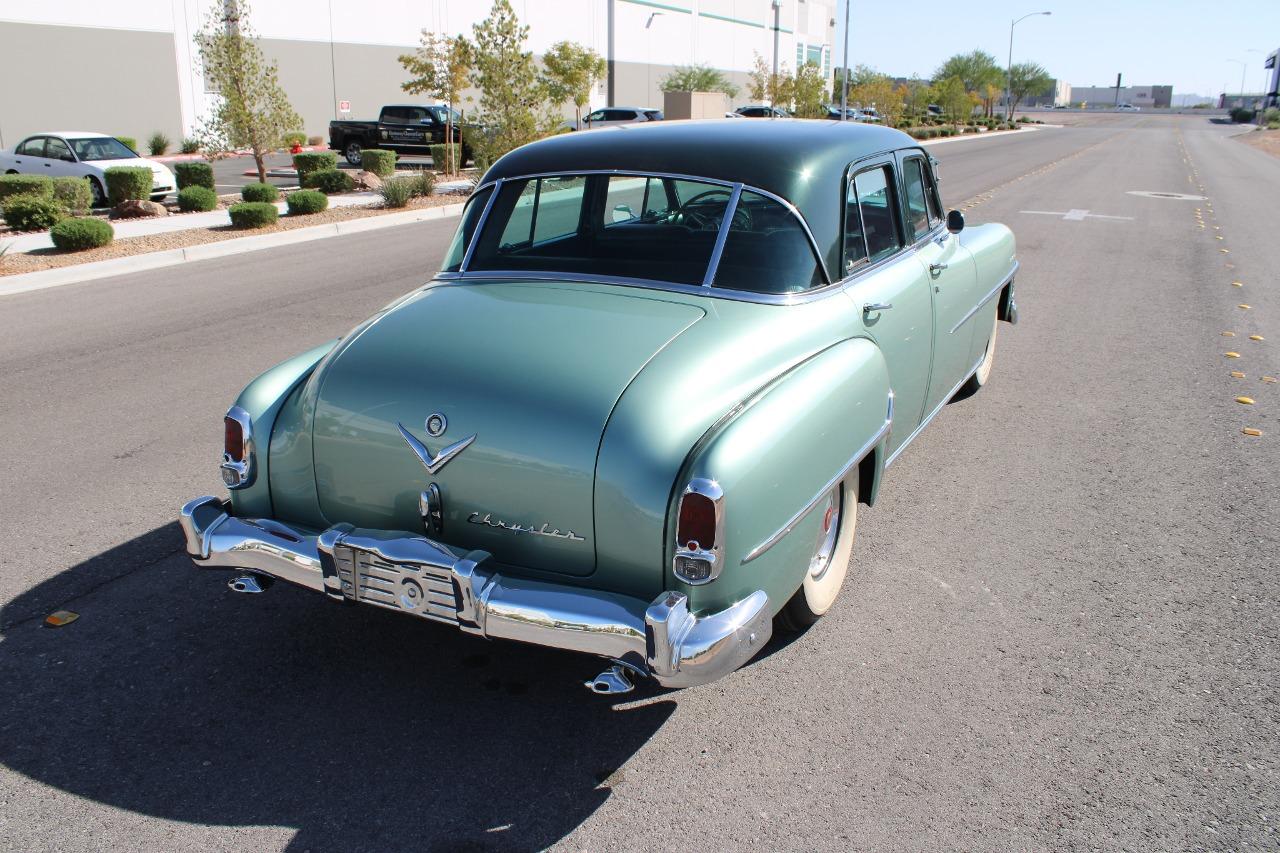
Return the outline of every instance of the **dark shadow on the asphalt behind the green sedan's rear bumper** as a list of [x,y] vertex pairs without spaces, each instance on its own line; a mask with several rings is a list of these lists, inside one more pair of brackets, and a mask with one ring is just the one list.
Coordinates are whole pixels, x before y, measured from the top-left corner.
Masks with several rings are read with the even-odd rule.
[[[232,593],[179,542],[152,530],[0,608],[0,763],[147,816],[296,827],[291,850],[535,849],[675,710],[588,693],[591,658]],[[68,594],[79,619],[44,625]]]

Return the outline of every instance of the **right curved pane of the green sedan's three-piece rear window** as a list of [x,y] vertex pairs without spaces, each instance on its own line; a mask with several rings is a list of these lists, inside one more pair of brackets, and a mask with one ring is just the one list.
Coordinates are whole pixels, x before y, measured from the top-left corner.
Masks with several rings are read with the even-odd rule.
[[713,286],[753,293],[800,293],[824,283],[800,222],[773,199],[744,191]]

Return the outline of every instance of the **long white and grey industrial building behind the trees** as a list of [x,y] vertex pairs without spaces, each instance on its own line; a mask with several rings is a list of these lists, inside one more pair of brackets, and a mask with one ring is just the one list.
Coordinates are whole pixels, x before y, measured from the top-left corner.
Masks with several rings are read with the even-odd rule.
[[[191,134],[214,97],[205,91],[193,36],[223,0],[0,0],[0,145],[55,127],[146,138]],[[397,56],[421,29],[466,33],[490,0],[379,0],[370,4],[252,0],[250,20],[305,129],[334,118],[375,118],[401,90]],[[723,70],[742,91],[755,54],[788,69],[814,61],[831,73],[836,0],[512,0],[540,55],[561,40],[609,60],[591,106],[662,106],[658,83],[676,65]],[[339,114],[339,104],[349,111]],[[463,104],[463,106],[467,106]]]

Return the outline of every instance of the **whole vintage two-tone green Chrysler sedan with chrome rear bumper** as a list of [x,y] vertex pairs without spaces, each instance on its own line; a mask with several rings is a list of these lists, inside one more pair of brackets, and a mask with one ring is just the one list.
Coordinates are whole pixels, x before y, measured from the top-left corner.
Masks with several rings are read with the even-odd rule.
[[710,681],[827,612],[858,505],[1015,321],[1014,238],[842,122],[517,149],[443,269],[255,379],[197,565]]

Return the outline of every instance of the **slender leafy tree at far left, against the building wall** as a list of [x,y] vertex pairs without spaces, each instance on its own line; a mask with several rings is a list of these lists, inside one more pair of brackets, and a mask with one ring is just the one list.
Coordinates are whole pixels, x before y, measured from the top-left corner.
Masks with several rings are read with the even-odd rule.
[[209,88],[219,93],[212,114],[198,136],[206,151],[250,149],[257,178],[266,183],[268,154],[280,147],[284,134],[302,129],[302,118],[266,61],[248,23],[246,0],[215,3],[196,36],[200,65]]

